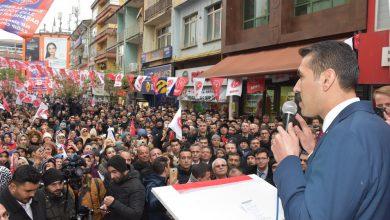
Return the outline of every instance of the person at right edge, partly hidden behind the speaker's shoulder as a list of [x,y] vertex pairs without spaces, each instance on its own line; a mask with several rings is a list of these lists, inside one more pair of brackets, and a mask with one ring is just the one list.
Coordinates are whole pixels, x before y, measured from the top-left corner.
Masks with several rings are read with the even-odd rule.
[[382,86],[374,92],[375,107],[383,113],[383,119],[390,125],[390,86]]

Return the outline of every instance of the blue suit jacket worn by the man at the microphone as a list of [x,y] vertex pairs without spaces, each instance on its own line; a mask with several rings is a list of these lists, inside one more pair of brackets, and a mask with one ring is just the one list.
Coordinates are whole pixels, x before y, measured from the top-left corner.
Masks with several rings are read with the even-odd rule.
[[308,160],[288,156],[274,181],[286,219],[390,219],[390,126],[371,102],[347,106]]

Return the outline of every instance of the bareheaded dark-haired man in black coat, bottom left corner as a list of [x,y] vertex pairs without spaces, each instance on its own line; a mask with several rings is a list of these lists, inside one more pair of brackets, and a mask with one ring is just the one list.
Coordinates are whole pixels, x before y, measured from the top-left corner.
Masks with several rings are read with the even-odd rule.
[[44,200],[35,195],[40,179],[38,171],[30,165],[15,171],[10,185],[0,194],[0,203],[8,211],[10,220],[46,219]]

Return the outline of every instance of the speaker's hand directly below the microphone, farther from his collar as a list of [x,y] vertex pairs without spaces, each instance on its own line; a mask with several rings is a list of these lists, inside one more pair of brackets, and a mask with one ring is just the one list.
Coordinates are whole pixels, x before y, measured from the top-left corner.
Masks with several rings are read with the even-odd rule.
[[284,158],[290,155],[299,156],[299,139],[295,135],[292,123],[288,124],[288,132],[282,127],[278,127],[278,134],[272,140],[272,152],[276,162],[280,163]]

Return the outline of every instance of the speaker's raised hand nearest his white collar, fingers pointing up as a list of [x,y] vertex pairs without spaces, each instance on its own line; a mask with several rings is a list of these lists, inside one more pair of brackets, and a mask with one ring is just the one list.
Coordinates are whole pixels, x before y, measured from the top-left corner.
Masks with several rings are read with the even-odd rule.
[[295,119],[297,119],[297,121],[299,122],[302,128],[301,130],[299,126],[295,125],[294,126],[295,134],[298,136],[303,149],[305,149],[305,151],[308,154],[311,154],[314,151],[314,148],[316,146],[315,136],[311,132],[311,129],[307,125],[306,121],[302,118],[302,116],[297,114],[295,116]]

